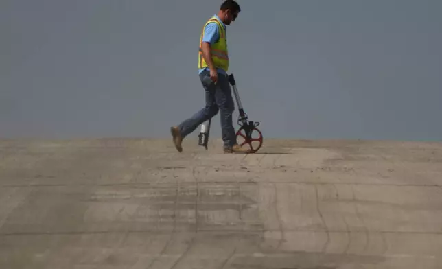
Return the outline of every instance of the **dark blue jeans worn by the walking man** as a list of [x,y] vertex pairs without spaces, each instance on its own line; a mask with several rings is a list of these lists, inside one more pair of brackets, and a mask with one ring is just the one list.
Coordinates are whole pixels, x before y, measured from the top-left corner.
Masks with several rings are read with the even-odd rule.
[[211,119],[220,111],[222,141],[224,147],[231,147],[236,143],[236,134],[232,123],[235,104],[233,103],[229,80],[226,75],[218,73],[218,81],[214,84],[209,71],[202,71],[200,80],[202,87],[205,89],[206,104],[204,108],[178,125],[181,137],[187,137],[200,124]]

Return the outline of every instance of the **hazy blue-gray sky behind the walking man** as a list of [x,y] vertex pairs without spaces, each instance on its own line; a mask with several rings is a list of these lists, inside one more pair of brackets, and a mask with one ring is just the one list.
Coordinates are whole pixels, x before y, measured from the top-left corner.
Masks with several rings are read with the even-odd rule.
[[[264,139],[442,138],[442,1],[238,2],[230,71]],[[169,137],[204,105],[221,3],[0,1],[0,137]]]

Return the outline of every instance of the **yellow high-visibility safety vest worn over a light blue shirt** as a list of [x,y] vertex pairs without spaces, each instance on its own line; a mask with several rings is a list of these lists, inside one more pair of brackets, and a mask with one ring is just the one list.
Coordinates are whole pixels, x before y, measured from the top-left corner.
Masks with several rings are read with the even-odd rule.
[[227,70],[229,69],[229,53],[227,52],[226,31],[215,16],[211,17],[211,19],[209,19],[209,21],[207,21],[207,23],[205,23],[205,25],[202,27],[202,32],[200,36],[200,51],[198,52],[198,69],[208,67],[207,62],[202,56],[202,36],[204,36],[205,27],[209,23],[216,23],[218,25],[218,30],[220,33],[219,40],[211,45],[213,65],[215,65],[216,68],[221,68],[227,72]]

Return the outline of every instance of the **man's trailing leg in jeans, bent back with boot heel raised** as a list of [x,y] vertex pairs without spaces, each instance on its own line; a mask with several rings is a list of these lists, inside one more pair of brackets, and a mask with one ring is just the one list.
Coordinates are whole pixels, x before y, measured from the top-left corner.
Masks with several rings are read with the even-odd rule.
[[181,141],[191,132],[194,132],[194,130],[200,124],[209,120],[218,113],[218,107],[216,106],[215,102],[215,87],[211,81],[209,72],[202,72],[200,74],[200,80],[202,87],[205,89],[205,107],[200,109],[188,119],[185,119],[185,121],[181,122],[181,124],[178,126],[171,128],[175,147],[179,152],[183,150],[181,148]]

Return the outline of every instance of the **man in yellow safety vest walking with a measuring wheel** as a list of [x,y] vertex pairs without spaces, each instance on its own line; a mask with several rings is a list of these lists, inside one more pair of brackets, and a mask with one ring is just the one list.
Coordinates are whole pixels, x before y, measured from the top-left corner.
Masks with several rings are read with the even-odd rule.
[[248,153],[249,150],[237,144],[232,113],[235,104],[231,95],[231,86],[227,77],[229,54],[227,51],[226,25],[235,21],[240,13],[240,5],[234,0],[222,3],[218,14],[213,15],[202,28],[200,51],[198,54],[198,72],[205,89],[205,107],[170,128],[178,152],[182,152],[181,142],[200,124],[215,116],[220,111],[222,141],[224,152]]

